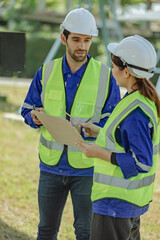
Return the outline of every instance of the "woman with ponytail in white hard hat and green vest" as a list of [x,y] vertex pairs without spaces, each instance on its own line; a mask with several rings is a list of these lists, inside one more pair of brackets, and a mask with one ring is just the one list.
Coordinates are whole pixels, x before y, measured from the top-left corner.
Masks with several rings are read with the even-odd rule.
[[127,93],[103,128],[90,128],[96,144],[77,142],[94,157],[91,240],[139,240],[140,216],[153,197],[159,145],[160,100],[149,82],[156,66],[150,42],[130,36],[110,43],[112,73]]

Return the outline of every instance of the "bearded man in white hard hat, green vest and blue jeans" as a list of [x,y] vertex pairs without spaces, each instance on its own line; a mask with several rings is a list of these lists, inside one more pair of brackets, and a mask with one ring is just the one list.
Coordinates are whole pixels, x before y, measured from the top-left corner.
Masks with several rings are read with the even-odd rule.
[[[93,36],[98,35],[95,19],[83,8],[74,9],[66,16],[61,29],[66,54],[37,71],[22,107],[25,123],[33,128],[41,126],[32,111],[35,105],[38,111],[44,109],[47,114],[67,118],[74,125],[76,122],[62,109],[81,123],[103,126],[119,101],[120,92],[110,69],[88,54]],[[76,239],[89,240],[93,160],[88,161],[78,148],[54,142],[43,126],[39,157],[37,240],[57,239],[69,193]]]

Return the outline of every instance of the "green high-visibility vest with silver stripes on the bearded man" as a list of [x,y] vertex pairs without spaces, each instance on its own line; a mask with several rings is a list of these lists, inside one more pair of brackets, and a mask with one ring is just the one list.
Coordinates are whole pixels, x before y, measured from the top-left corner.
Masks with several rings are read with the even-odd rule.
[[[91,58],[77,88],[70,110],[71,116],[81,123],[99,122],[101,111],[108,97],[110,69]],[[66,110],[66,93],[62,71],[62,58],[43,66],[42,72],[42,103],[45,112],[52,116],[66,118],[62,109]],[[70,119],[70,122],[73,122]],[[82,152],[70,146],[54,141],[49,132],[42,126],[39,142],[39,155],[43,163],[54,166],[60,161],[63,151],[68,154],[70,166],[76,169],[93,167],[93,159],[89,161]]]

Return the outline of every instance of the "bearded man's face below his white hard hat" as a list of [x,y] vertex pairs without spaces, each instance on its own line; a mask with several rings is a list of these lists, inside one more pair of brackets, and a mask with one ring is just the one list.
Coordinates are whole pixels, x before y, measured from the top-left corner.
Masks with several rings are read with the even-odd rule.
[[[65,37],[65,36],[64,36]],[[66,54],[76,62],[83,62],[91,46],[92,36],[70,33],[68,39],[65,38]]]

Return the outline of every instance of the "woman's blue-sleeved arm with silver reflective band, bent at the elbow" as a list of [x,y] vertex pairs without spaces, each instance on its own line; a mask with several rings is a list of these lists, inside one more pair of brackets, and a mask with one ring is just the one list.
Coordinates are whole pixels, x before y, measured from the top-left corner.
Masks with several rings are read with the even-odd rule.
[[152,167],[153,128],[149,123],[146,114],[137,108],[120,126],[120,145],[123,145],[125,153],[116,153],[115,158],[125,178],[148,172]]

